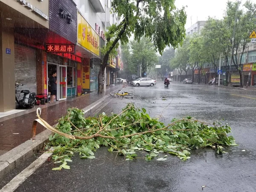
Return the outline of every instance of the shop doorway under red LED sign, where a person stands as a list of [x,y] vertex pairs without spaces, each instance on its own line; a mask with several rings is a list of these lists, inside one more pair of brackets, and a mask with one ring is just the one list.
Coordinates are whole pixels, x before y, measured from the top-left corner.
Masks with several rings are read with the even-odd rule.
[[67,99],[67,66],[53,64],[47,62],[47,93],[49,98],[50,87],[49,87],[49,78],[52,76],[53,72],[57,72],[57,95],[55,96],[56,100]]

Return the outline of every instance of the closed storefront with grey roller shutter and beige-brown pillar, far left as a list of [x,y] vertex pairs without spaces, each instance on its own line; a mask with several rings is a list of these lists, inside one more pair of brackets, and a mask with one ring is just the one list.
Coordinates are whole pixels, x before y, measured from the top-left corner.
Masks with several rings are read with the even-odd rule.
[[[4,3],[3,3],[4,2]],[[31,33],[16,38],[18,30],[49,29],[49,0],[0,1],[0,112],[15,109],[15,82],[37,93],[38,50]],[[40,38],[38,34],[33,34]]]

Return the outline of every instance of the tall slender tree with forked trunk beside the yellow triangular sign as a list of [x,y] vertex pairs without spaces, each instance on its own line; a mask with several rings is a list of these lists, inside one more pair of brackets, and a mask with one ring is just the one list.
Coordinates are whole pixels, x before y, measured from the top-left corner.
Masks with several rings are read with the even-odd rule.
[[256,4],[246,1],[245,9],[241,9],[241,2],[228,2],[224,24],[230,41],[230,52],[233,64],[240,75],[240,86],[242,82],[242,57],[247,44],[250,32],[256,28]]

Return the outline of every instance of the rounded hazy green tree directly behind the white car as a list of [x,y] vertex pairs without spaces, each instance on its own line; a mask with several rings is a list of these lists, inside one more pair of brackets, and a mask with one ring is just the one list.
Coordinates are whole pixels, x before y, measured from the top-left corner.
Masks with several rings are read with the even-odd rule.
[[144,73],[148,73],[148,68],[157,63],[157,55],[154,49],[154,45],[149,38],[142,37],[140,41],[131,42],[132,50],[132,61],[137,64],[138,67],[141,66],[141,74],[143,77]]

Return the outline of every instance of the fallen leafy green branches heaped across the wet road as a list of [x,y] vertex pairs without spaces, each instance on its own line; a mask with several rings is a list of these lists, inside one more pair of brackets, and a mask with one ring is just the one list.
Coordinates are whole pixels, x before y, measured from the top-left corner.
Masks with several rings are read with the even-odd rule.
[[[172,119],[164,125],[157,118],[151,118],[144,108],[139,109],[129,103],[122,113],[111,116],[84,117],[77,108],[68,109],[66,116],[58,121],[59,131],[49,137],[46,148],[54,147],[52,158],[55,163],[62,163],[54,170],[70,169],[68,161],[78,152],[81,158],[95,158],[93,151],[101,145],[109,146],[108,151],[117,151],[133,160],[136,151],[148,151],[145,160],[150,161],[161,152],[174,154],[181,160],[190,157],[189,150],[204,147],[215,148],[223,153],[224,145],[236,145],[232,136],[227,136],[231,128],[220,122],[208,124],[191,117]],[[161,156],[161,155],[160,155]],[[167,155],[157,160],[166,160]]]

